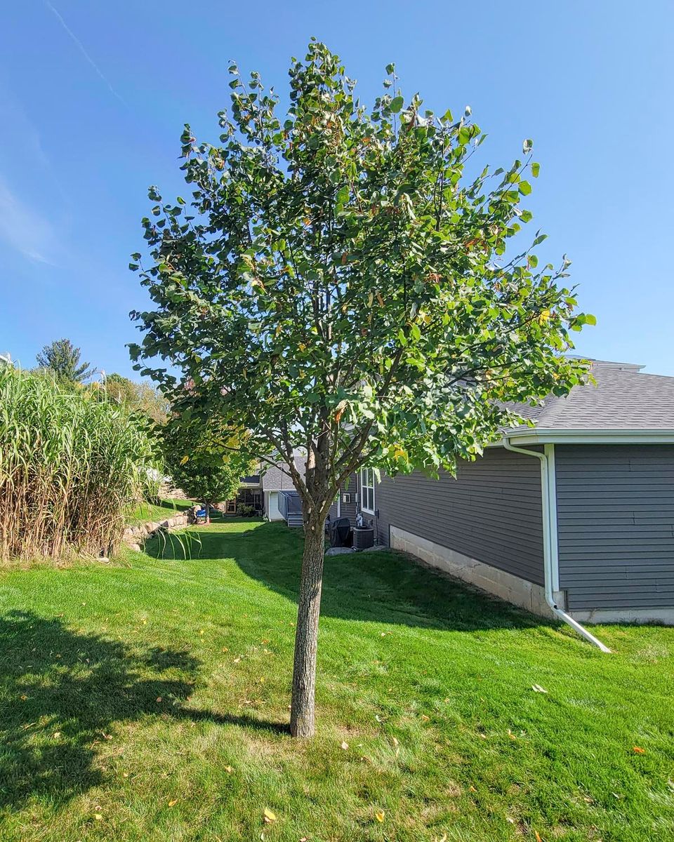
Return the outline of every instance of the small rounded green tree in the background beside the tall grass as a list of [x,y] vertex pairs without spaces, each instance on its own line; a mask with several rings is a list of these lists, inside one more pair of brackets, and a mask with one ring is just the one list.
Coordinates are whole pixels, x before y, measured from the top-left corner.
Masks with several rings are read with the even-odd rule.
[[236,497],[241,477],[250,472],[236,434],[222,434],[216,427],[201,427],[180,415],[162,430],[164,460],[174,485],[200,500],[211,522],[210,506]]

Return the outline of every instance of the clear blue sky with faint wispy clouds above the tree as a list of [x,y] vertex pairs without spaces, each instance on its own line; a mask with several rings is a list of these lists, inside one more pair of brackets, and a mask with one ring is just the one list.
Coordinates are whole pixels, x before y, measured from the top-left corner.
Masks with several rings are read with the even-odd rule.
[[598,320],[582,354],[674,375],[674,3],[227,3],[24,0],[0,33],[0,352],[24,366],[54,338],[131,375],[128,312],[146,298],[126,268],[142,246],[147,185],[181,192],[179,135],[217,138],[227,63],[282,92],[292,55],[324,40],[379,90],[473,109],[482,160],[534,140],[529,197],[541,256],[573,259]]

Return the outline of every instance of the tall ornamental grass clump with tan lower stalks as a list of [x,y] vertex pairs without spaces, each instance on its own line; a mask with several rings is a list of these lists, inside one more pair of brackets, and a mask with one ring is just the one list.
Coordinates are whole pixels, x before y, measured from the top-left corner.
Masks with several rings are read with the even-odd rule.
[[108,556],[156,472],[147,422],[98,390],[0,369],[0,559]]

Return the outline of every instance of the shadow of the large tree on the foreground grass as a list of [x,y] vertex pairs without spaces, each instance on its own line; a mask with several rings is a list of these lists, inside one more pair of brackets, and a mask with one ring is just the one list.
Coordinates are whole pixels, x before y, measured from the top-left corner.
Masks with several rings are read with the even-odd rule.
[[186,650],[138,653],[30,611],[0,616],[0,809],[29,797],[67,802],[104,783],[97,754],[117,722],[168,714],[283,730],[184,706],[200,666]]

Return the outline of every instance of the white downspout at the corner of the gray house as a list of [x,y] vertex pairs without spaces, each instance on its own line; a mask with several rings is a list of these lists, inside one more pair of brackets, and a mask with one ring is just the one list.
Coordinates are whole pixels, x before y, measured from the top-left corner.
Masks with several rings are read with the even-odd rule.
[[[506,450],[515,453],[523,453],[525,456],[536,456],[541,462],[541,504],[543,509],[543,579],[545,582],[545,601],[560,620],[568,623],[575,632],[602,652],[610,653],[611,650],[601,640],[588,632],[585,626],[581,626],[572,616],[561,610],[554,600],[554,591],[559,590],[559,566],[557,560],[557,499],[554,488],[554,447],[546,445],[545,452],[538,450],[526,450],[523,447],[511,445],[507,438],[503,440]],[[549,463],[549,464],[548,464]],[[552,481],[552,482],[551,482]]]

